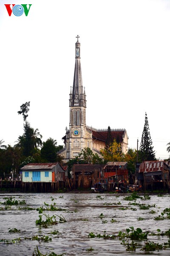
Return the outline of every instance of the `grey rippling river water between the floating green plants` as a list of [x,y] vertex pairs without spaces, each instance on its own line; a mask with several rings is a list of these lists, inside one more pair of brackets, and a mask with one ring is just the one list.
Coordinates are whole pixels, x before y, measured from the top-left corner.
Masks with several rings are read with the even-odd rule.
[[[136,202],[140,204],[149,204],[150,206],[155,204],[155,207],[150,207],[150,209],[139,209],[139,206],[129,205],[134,201],[125,201],[124,198],[127,195],[109,193],[0,194],[0,202],[5,202],[6,198],[10,196],[14,197],[14,200],[25,200],[26,205],[20,205],[20,208],[18,205],[12,205],[10,209],[4,209],[5,206],[0,204],[1,256],[32,256],[34,248],[37,246],[43,255],[50,252],[58,255],[65,253],[66,256],[170,255],[170,248],[153,252],[141,250],[146,240],[135,241],[138,243],[136,250],[127,251],[119,237],[115,239],[88,238],[88,234],[91,232],[95,235],[106,233],[117,236],[119,231],[126,232],[126,229],[132,226],[134,229],[141,228],[143,232],[150,233],[157,233],[157,229],[160,229],[161,232],[169,230],[170,219],[154,220],[154,217],[161,215],[165,208],[170,208],[170,195],[168,194],[164,196],[150,195],[150,200],[136,199]],[[52,198],[54,201],[51,201]],[[39,219],[37,210],[21,209],[28,206],[37,208],[43,205],[45,207],[44,202],[48,204],[55,202],[57,207],[66,209],[66,211],[45,211],[45,213],[50,216],[62,214],[67,222],[48,225],[45,228],[35,224],[35,221]],[[155,213],[149,213],[151,210]],[[143,218],[143,220],[139,221],[139,218]],[[112,223],[112,219],[116,222]],[[57,220],[59,220],[58,217]],[[12,228],[20,230],[20,233],[10,233],[9,230]],[[50,234],[56,230],[59,234]],[[49,236],[52,240],[40,242],[32,240],[33,236]],[[16,242],[13,243],[12,240],[17,238],[21,240],[15,240]],[[159,244],[164,244],[168,239],[170,239],[168,236],[147,236],[147,241]]]

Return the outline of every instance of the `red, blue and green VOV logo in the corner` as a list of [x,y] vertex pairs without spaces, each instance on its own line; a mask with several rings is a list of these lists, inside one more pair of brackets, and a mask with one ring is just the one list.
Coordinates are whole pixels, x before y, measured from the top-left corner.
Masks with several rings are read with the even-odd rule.
[[[6,6],[8,15],[11,16],[12,12],[15,16],[21,16],[23,15],[23,13],[25,13],[26,16],[28,16],[28,12],[30,10],[30,7],[32,4],[28,4],[28,8],[27,8],[27,4],[4,4]],[[11,8],[12,5],[12,8]]]

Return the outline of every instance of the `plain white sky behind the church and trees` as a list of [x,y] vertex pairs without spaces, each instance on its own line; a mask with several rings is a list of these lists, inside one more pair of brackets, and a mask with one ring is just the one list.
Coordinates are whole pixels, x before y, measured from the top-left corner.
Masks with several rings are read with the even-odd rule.
[[[9,17],[9,3],[32,6]],[[31,127],[63,144],[77,35],[87,125],[125,128],[136,148],[147,112],[156,157],[168,158],[170,0],[1,0],[0,140],[23,134],[17,111],[30,101]]]

